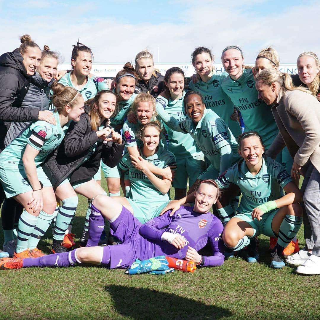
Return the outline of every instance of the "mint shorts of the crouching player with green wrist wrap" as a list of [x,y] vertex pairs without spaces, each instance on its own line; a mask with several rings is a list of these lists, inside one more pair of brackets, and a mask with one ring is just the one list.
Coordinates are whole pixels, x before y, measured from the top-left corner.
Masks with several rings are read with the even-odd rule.
[[[279,208],[263,214],[260,221],[257,219],[252,220],[251,213],[238,213],[233,218],[239,218],[250,224],[253,229],[252,238],[259,236],[259,234],[264,234],[268,237],[278,237],[278,235],[276,235],[272,231],[272,220],[278,211]],[[230,220],[232,220],[233,218],[231,218]]]

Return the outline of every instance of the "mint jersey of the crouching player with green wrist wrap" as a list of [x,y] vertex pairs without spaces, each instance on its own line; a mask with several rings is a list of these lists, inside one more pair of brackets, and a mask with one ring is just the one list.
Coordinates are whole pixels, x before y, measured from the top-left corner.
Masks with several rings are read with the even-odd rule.
[[262,167],[255,176],[249,172],[245,161],[242,161],[240,168],[239,163],[236,163],[217,178],[220,188],[227,188],[230,183],[240,188],[242,198],[237,212],[250,215],[256,206],[281,198],[281,188],[291,181],[284,167],[269,157],[262,157]]

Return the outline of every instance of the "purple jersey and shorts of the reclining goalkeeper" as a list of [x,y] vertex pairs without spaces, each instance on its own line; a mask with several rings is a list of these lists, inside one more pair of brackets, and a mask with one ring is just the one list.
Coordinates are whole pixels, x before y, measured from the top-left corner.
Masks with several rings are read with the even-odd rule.
[[[223,225],[210,212],[196,213],[192,207],[181,206],[170,216],[170,212],[141,224],[127,209],[114,223],[110,223],[112,233],[124,243],[110,246],[110,268],[128,267],[135,259],[145,260],[165,255],[184,259],[188,246],[199,251],[208,242],[211,244],[212,256],[204,257],[204,266],[222,265],[224,261],[224,244],[221,239]],[[117,221],[118,220],[118,221]],[[163,232],[180,234],[185,240],[182,249],[161,240]]]

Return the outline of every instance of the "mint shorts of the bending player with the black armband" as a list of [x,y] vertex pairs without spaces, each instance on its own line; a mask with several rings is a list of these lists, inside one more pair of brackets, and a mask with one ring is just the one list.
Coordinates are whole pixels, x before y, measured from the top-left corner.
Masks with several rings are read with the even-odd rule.
[[[36,168],[39,181],[44,187],[52,187],[48,177],[42,167]],[[14,197],[18,194],[32,191],[32,187],[23,167],[0,167],[0,180],[6,198]]]

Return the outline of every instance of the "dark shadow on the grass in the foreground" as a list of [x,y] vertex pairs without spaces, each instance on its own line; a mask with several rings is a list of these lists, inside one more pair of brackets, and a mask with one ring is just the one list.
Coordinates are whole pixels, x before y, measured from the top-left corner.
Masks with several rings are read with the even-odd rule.
[[131,319],[220,319],[232,316],[227,309],[145,288],[108,285],[104,288],[114,301],[115,311]]

